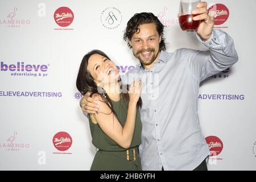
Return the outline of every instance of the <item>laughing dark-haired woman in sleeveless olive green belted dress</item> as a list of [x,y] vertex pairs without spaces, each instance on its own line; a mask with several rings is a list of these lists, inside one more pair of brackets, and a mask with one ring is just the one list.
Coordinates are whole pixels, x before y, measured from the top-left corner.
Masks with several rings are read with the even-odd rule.
[[100,108],[89,115],[92,143],[97,151],[91,170],[142,170],[138,146],[142,123],[139,107],[141,80],[130,89],[122,85],[113,61],[102,51],[93,50],[82,59],[76,80],[82,95],[92,92]]

